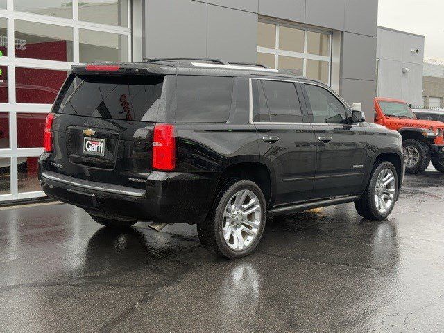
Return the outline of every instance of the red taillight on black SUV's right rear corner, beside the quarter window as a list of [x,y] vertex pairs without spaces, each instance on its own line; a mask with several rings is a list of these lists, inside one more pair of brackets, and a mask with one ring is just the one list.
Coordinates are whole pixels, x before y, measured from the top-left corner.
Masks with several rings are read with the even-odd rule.
[[154,127],[153,169],[170,171],[176,167],[174,126],[160,123]]

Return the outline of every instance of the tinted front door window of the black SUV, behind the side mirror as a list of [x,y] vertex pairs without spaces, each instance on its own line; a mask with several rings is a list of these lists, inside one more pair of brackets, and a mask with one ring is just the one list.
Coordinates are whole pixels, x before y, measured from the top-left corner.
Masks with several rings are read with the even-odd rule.
[[339,99],[317,85],[304,85],[315,123],[348,123],[347,112]]

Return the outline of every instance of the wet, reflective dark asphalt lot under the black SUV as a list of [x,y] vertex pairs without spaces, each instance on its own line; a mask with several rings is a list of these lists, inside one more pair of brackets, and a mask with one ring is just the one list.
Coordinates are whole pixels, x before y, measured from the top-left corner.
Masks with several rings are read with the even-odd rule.
[[443,332],[443,185],[433,168],[407,176],[382,222],[352,204],[268,220],[236,261],[195,226],[0,210],[0,332]]

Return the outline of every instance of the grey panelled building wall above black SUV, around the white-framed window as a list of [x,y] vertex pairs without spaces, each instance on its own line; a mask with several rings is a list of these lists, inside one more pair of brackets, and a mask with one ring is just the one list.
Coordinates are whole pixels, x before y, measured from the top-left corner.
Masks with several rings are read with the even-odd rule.
[[373,119],[377,0],[145,0],[143,56],[257,62],[259,16],[339,32],[332,86]]

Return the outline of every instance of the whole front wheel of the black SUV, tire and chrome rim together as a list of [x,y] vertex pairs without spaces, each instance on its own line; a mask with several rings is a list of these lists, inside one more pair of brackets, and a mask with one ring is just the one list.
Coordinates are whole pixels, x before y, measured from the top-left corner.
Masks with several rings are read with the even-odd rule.
[[365,219],[380,221],[390,215],[398,196],[398,174],[391,162],[381,162],[372,173],[366,191],[355,207]]

